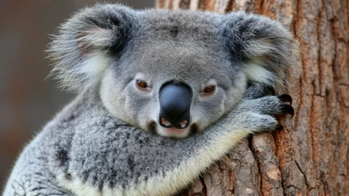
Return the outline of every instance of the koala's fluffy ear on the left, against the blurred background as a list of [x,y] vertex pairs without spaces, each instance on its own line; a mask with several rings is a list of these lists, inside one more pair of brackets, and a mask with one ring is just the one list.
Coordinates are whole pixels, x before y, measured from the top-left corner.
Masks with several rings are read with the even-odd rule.
[[125,6],[97,4],[78,11],[59,27],[49,45],[50,76],[66,90],[81,90],[101,79],[111,53],[122,50],[134,20]]

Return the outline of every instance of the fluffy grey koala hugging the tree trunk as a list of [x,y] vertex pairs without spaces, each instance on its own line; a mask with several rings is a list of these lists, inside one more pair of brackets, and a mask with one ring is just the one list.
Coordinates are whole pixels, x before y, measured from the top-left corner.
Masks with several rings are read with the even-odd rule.
[[[84,8],[48,52],[78,96],[24,148],[3,195],[174,195],[294,115],[294,39],[243,12]],[[287,104],[290,103],[290,104]]]

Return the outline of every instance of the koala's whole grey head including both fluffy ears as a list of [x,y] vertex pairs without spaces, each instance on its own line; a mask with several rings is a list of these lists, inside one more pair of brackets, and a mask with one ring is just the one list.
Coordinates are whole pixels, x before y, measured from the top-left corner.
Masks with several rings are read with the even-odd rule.
[[63,87],[98,85],[116,118],[187,137],[232,110],[248,84],[283,85],[290,41],[262,16],[107,4],[76,13],[49,51]]

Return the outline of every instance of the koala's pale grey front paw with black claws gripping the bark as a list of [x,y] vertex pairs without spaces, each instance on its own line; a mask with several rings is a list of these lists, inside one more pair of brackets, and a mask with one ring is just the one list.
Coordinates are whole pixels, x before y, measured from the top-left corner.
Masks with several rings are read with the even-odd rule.
[[246,100],[238,109],[249,113],[248,124],[251,125],[251,130],[254,132],[282,130],[283,126],[278,124],[275,116],[278,114],[290,114],[292,118],[294,109],[290,104],[292,104],[292,97],[289,94],[280,94],[278,96]]

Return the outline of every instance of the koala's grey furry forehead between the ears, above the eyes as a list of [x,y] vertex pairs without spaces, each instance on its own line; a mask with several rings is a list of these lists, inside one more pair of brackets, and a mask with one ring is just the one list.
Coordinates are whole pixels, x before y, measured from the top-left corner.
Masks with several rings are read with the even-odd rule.
[[186,81],[230,80],[238,68],[232,66],[220,38],[220,18],[211,13],[144,11],[119,59],[122,72]]

